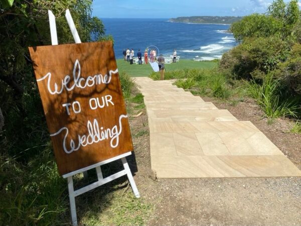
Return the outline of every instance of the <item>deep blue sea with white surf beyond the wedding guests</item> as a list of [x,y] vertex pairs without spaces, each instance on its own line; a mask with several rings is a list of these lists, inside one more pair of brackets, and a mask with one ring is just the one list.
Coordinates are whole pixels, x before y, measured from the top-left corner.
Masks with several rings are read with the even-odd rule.
[[171,23],[168,19],[101,19],[106,34],[114,38],[117,59],[122,51],[133,48],[157,49],[159,54],[170,56],[177,50],[184,59],[213,60],[236,45],[229,25]]

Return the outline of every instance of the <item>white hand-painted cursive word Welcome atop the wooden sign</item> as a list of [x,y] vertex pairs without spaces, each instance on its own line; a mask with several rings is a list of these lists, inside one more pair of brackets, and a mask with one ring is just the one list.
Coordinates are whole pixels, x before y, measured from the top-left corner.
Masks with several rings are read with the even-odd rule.
[[[48,78],[47,81],[47,88],[49,93],[52,95],[54,94],[61,94],[64,89],[67,91],[73,90],[75,87],[84,89],[86,87],[92,87],[94,85],[100,85],[100,84],[109,84],[111,81],[112,74],[116,74],[118,72],[118,69],[115,71],[110,70],[109,75],[105,74],[95,74],[93,76],[87,76],[86,78],[81,77],[80,75],[80,63],[78,60],[75,61],[74,67],[73,67],[73,85],[70,85],[71,77],[70,75],[65,75],[65,77],[62,79],[61,85],[58,85],[56,82],[54,82],[54,87],[51,87],[51,73],[48,72],[45,76],[42,78],[37,79],[37,81],[43,81],[44,79]],[[77,71],[77,73],[76,73]],[[70,86],[70,87],[69,87]]]

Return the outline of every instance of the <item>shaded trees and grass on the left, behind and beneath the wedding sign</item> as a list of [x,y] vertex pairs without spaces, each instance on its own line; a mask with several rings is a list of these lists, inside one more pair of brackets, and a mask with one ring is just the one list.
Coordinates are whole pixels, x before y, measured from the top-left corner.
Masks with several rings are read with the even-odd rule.
[[[90,0],[0,2],[1,225],[70,222],[67,181],[58,174],[28,47],[51,45],[48,9],[56,16],[59,43],[74,43],[64,17],[66,9],[72,14],[82,42],[92,41],[91,34],[96,40],[111,39],[105,35],[102,22],[91,16],[91,7]],[[130,107],[130,99],[136,95],[132,94],[133,82],[125,74],[121,81],[131,110],[141,103]],[[103,173],[110,170],[104,169]],[[74,180],[76,184],[88,183],[92,176],[83,181],[79,175]],[[118,189],[119,184],[126,185],[121,179],[98,189],[98,196],[89,193],[86,198],[90,201],[76,200],[83,223],[143,224],[152,206],[143,199],[134,199],[130,190]],[[96,218],[95,212],[100,212],[101,217]]]

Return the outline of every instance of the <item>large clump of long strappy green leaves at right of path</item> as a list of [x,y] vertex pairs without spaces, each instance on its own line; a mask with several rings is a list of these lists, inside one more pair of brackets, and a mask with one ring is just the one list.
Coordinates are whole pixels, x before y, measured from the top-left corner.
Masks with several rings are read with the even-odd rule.
[[249,86],[250,96],[256,99],[265,116],[272,119],[297,116],[298,105],[283,92],[281,84],[273,78],[271,73],[263,79],[261,85],[252,80]]

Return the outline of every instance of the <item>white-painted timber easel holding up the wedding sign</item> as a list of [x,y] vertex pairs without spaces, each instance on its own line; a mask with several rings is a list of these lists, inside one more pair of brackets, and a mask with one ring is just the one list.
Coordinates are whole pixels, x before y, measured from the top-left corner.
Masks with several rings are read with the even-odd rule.
[[[58,37],[57,37],[55,16],[53,15],[52,11],[50,11],[50,10],[48,11],[48,16],[49,16],[49,24],[50,24],[51,43],[52,43],[52,45],[58,45]],[[73,35],[75,43],[81,43],[69,10],[66,10],[66,15],[65,16],[66,16],[66,19],[67,19],[68,25],[70,27],[71,33]],[[79,169],[79,170],[76,170],[76,171],[73,171],[73,172],[70,172],[70,173],[67,173],[67,174],[63,175],[63,178],[67,178],[67,180],[68,180],[70,210],[71,210],[71,218],[72,218],[72,224],[73,225],[77,225],[75,197],[78,196],[78,195],[81,195],[81,194],[83,194],[87,191],[90,191],[90,190],[92,190],[96,187],[99,187],[99,186],[101,186],[105,183],[108,183],[112,180],[115,180],[119,177],[127,175],[128,181],[130,183],[130,186],[132,188],[132,191],[133,191],[135,197],[137,197],[137,198],[140,197],[139,191],[136,187],[135,181],[133,179],[133,176],[131,174],[131,171],[129,169],[128,163],[127,163],[126,158],[125,158],[126,156],[129,156],[129,155],[131,155],[131,152],[124,153],[122,155],[113,157],[111,159],[108,159],[108,160],[96,163],[94,165],[91,165],[91,166],[88,166],[88,167],[85,167],[85,168],[82,168],[82,169]],[[107,163],[119,160],[119,159],[121,159],[124,169],[117,172],[117,173],[115,173],[115,174],[113,174],[113,175],[111,175],[111,176],[103,178],[102,172],[101,172],[101,166],[105,165]],[[89,184],[85,187],[82,187],[78,190],[74,190],[73,176],[78,174],[78,173],[84,173],[84,176],[87,176],[87,171],[90,170],[90,169],[94,169],[94,168],[96,169],[98,181],[96,181],[92,184]]]

